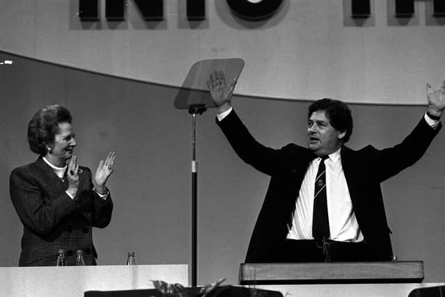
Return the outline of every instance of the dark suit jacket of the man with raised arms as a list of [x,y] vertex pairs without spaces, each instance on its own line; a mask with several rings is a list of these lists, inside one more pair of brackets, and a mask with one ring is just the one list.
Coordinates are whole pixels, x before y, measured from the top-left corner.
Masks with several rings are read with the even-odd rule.
[[[217,124],[238,156],[270,175],[270,184],[254,227],[246,263],[275,262],[274,246],[286,239],[296,199],[309,163],[316,157],[306,147],[293,143],[279,150],[261,145],[252,137],[234,111]],[[364,241],[380,261],[392,257],[391,241],[380,183],[421,158],[437,129],[422,118],[405,140],[391,148],[361,150],[341,147],[341,164],[348,184],[353,211]]]

